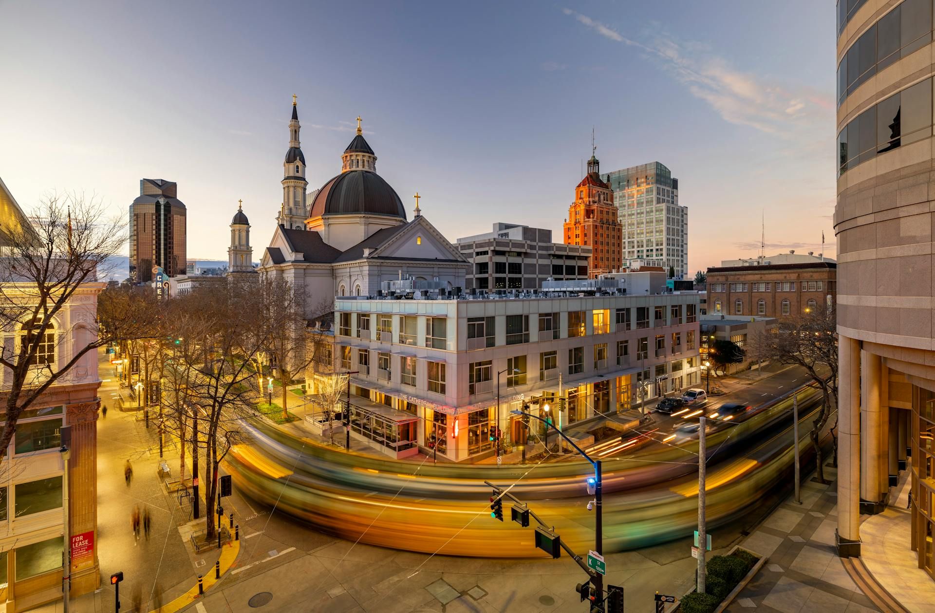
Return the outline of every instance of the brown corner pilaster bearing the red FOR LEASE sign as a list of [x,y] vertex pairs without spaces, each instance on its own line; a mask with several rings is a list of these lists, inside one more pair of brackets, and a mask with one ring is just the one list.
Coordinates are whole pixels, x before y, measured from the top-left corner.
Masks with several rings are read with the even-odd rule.
[[71,561],[72,596],[94,592],[100,583],[97,562],[97,406],[94,401],[66,407],[66,419],[71,426],[68,517],[73,542],[79,539],[83,543]]

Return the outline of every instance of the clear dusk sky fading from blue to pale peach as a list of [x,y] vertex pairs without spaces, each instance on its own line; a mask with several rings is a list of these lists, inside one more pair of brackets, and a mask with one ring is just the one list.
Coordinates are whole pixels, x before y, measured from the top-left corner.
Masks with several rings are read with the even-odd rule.
[[179,184],[189,258],[253,259],[282,200],[292,95],[309,191],[363,118],[377,170],[452,242],[496,221],[561,239],[592,128],[602,172],[658,161],[688,207],[689,271],[834,255],[835,7],[653,2],[0,0],[0,178],[21,207],[125,211]]

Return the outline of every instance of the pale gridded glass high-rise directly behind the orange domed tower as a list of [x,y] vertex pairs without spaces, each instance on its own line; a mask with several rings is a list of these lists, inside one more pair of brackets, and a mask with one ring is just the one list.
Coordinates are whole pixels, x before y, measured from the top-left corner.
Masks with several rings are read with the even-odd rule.
[[663,260],[675,276],[688,274],[688,208],[679,204],[679,179],[658,162],[607,176],[624,229],[624,262]]

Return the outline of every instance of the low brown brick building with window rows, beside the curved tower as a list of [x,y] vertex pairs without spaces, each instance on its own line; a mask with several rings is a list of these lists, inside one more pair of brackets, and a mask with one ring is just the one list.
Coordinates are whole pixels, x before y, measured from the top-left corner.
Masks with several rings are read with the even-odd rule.
[[708,269],[708,313],[732,317],[794,317],[830,309],[837,295],[837,266],[764,264]]

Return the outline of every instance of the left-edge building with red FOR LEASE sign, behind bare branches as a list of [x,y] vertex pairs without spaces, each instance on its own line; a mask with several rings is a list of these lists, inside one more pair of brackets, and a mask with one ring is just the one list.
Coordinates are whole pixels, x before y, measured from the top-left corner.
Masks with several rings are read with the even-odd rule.
[[[28,222],[2,180],[0,218],[5,225]],[[7,283],[5,295],[13,301],[35,296],[35,289],[21,285]],[[89,279],[53,316],[47,350],[36,354],[36,376],[42,364],[58,369],[73,358],[76,346],[94,340],[88,324],[96,319],[97,294],[105,285]],[[7,332],[4,342],[12,347],[20,334]],[[0,369],[4,406],[11,382],[10,371]],[[20,414],[4,457],[5,470],[0,472],[0,608],[5,611],[24,611],[62,598],[66,545],[71,547],[71,595],[94,592],[100,586],[96,428],[100,384],[97,353],[89,351]],[[68,445],[68,454],[61,451],[63,444]]]

